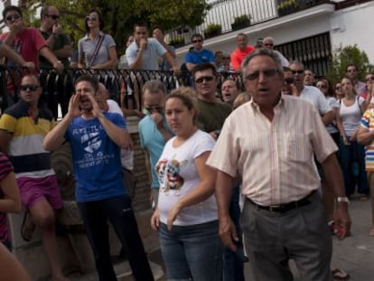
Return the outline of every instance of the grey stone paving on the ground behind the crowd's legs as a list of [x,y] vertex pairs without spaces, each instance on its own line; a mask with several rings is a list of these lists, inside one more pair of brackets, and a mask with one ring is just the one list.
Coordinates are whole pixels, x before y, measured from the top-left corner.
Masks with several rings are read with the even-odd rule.
[[[350,205],[352,220],[351,237],[339,240],[333,238],[332,268],[341,268],[347,271],[353,281],[370,281],[374,280],[374,237],[369,237],[370,227],[370,203],[369,201],[352,200]],[[158,281],[166,280],[164,276],[164,264],[161,257],[160,249],[157,247],[158,238],[154,233],[152,239],[145,241],[152,244],[153,250],[149,252],[148,257],[151,261],[151,267],[154,276]],[[295,265],[291,263],[295,280],[300,280]],[[117,264],[116,272],[118,280],[130,281],[135,280],[131,276],[128,262]],[[89,276],[79,276],[72,280],[97,280],[96,274]],[[253,280],[251,268],[246,264],[246,280]]]

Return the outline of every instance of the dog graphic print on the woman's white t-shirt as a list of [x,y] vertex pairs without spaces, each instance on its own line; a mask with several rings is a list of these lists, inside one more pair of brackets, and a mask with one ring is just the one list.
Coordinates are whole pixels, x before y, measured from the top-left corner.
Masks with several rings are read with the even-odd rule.
[[160,186],[163,188],[164,192],[169,192],[170,190],[181,190],[184,179],[182,178],[180,172],[181,167],[185,166],[186,164],[186,160],[179,162],[175,159],[171,161],[168,161],[167,159],[160,160],[156,164],[155,170],[158,174]]

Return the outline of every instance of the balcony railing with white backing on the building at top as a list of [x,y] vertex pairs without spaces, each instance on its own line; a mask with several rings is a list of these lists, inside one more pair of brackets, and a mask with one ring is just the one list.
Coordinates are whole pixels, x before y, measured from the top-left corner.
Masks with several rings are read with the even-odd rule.
[[[177,39],[175,40],[177,42],[184,40],[184,44],[189,44],[193,33],[206,33],[211,23],[217,23],[221,26],[220,32],[214,33],[214,36],[217,36],[230,33],[237,27],[243,29],[249,25],[264,23],[285,14],[292,14],[327,3],[335,4],[331,0],[217,0],[210,4],[211,8],[204,23],[193,29],[185,26],[174,30],[170,33],[171,40]],[[250,21],[242,18],[242,24],[233,24],[236,18],[243,15],[248,15]]]

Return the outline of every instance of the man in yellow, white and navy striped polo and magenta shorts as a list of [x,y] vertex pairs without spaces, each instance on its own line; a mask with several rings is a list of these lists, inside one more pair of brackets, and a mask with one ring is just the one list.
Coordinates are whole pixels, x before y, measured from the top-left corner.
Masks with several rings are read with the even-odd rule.
[[[26,212],[21,236],[33,239],[35,226],[42,229],[42,245],[51,265],[51,279],[66,280],[61,273],[55,234],[56,211],[62,207],[60,189],[51,168],[51,153],[42,141],[55,126],[51,110],[44,107],[40,80],[23,76],[21,99],[0,118],[0,150],[9,155]],[[16,246],[16,245],[15,245]]]

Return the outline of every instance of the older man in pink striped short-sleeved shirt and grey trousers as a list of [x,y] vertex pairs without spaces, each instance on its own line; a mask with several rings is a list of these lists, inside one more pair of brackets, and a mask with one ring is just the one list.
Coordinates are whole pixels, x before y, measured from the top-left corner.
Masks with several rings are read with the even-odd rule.
[[242,70],[252,100],[226,119],[207,161],[218,170],[220,237],[236,249],[229,197],[238,171],[246,198],[242,230],[256,279],[291,280],[288,259],[293,258],[303,280],[331,280],[332,237],[317,192],[320,181],[313,155],[331,182],[335,221],[343,239],[351,219],[334,154],[337,146],[312,104],[280,94],[284,75],[276,53],[251,52]]

